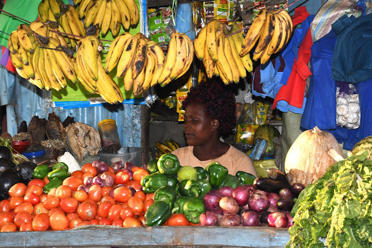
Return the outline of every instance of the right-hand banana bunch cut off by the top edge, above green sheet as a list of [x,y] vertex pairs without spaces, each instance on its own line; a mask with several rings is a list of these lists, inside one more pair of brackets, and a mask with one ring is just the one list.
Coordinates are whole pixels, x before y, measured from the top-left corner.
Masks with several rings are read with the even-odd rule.
[[79,4],[78,16],[84,18],[85,27],[98,24],[103,35],[110,29],[113,36],[117,36],[121,25],[128,30],[139,21],[134,0],[74,0],[74,4]]

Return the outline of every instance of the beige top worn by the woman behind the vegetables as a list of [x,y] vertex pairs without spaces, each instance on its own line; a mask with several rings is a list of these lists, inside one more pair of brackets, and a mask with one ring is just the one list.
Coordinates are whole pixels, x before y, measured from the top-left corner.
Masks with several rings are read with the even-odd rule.
[[200,161],[194,156],[193,146],[182,147],[173,151],[172,153],[180,160],[181,166],[200,166],[205,169],[210,162],[216,161],[225,166],[231,175],[235,176],[238,171],[244,171],[257,177],[252,160],[247,156],[247,154],[238,150],[232,145],[230,145],[230,149],[221,157],[205,161]]

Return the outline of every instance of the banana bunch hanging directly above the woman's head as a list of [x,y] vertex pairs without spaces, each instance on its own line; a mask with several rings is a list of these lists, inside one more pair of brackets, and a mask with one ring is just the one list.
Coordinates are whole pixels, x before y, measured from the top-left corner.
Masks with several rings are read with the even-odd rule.
[[249,54],[239,56],[243,34],[231,35],[238,30],[234,21],[225,25],[213,19],[197,34],[194,40],[195,55],[203,62],[208,78],[215,75],[221,77],[225,84],[238,83],[240,77],[247,77],[247,70],[253,70]]

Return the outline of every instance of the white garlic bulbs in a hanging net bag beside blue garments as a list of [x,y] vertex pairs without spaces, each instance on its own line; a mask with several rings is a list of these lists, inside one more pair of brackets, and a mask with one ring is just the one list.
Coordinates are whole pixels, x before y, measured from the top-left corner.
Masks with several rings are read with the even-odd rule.
[[[337,94],[336,94],[337,95]],[[359,95],[338,95],[336,97],[337,125],[356,129],[361,124],[361,111],[359,106]]]

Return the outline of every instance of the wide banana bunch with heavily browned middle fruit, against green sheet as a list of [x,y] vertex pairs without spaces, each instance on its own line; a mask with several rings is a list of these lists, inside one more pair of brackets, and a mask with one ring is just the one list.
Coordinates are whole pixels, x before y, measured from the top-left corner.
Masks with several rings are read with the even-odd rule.
[[137,96],[158,83],[164,63],[164,52],[156,42],[141,33],[132,36],[124,32],[111,43],[105,68],[109,73],[117,66],[117,77],[124,77],[125,90],[133,86]]

